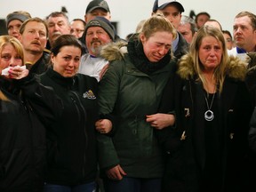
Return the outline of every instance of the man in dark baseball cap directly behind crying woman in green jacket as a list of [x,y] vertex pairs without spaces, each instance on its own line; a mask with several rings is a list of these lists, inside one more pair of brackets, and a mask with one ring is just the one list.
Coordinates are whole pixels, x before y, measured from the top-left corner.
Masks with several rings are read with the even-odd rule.
[[[178,28],[181,20],[181,13],[184,7],[177,1],[156,0],[153,5],[154,14],[163,14],[165,18],[170,20],[174,28]],[[174,56],[180,59],[181,56],[188,52],[188,43],[185,38],[177,31],[177,38],[172,41],[172,50]]]

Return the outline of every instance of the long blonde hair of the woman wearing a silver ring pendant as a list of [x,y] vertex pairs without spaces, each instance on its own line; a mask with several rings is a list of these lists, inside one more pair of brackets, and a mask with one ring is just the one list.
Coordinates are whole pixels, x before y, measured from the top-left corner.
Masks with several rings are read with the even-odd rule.
[[220,60],[220,65],[214,69],[214,78],[216,80],[216,84],[219,88],[218,92],[221,93],[223,89],[223,83],[225,80],[225,72],[228,64],[228,52],[227,46],[225,43],[225,38],[218,28],[213,28],[211,26],[203,26],[197,31],[196,37],[193,39],[192,43],[190,44],[190,56],[193,60],[193,68],[198,74],[198,80],[200,80],[203,85],[206,84],[206,80],[203,76],[203,65],[199,60],[199,47],[202,44],[202,40],[205,36],[213,36],[216,38],[220,44],[222,45],[222,55]]

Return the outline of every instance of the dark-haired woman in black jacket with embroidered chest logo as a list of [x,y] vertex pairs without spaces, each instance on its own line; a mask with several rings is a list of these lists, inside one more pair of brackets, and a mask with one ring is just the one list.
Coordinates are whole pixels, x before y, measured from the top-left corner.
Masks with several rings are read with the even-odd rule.
[[46,131],[48,169],[45,192],[93,191],[97,173],[94,124],[98,118],[97,80],[76,74],[82,54],[75,36],[63,35],[52,44],[52,68],[40,76],[63,102],[56,124]]

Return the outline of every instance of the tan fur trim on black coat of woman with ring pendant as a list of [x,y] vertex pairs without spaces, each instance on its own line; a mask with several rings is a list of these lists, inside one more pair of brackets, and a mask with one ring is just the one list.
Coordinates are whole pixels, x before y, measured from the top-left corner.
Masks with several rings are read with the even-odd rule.
[[[196,70],[193,68],[193,60],[189,53],[180,59],[177,73],[182,79],[187,80],[196,76]],[[244,81],[246,75],[245,62],[237,57],[229,56],[226,74],[231,78]]]

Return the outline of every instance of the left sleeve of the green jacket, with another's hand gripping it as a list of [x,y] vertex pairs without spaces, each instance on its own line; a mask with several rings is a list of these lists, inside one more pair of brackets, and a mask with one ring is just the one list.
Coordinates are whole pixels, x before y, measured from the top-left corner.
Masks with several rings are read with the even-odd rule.
[[[106,74],[99,84],[99,108],[100,116],[115,116],[114,110],[118,97],[121,77],[123,74],[122,62],[110,63]],[[108,118],[116,127],[113,118]],[[114,128],[113,127],[113,128]],[[116,128],[115,128],[116,129]],[[107,169],[119,164],[116,148],[111,135],[100,134],[97,136],[99,162],[101,169]]]

